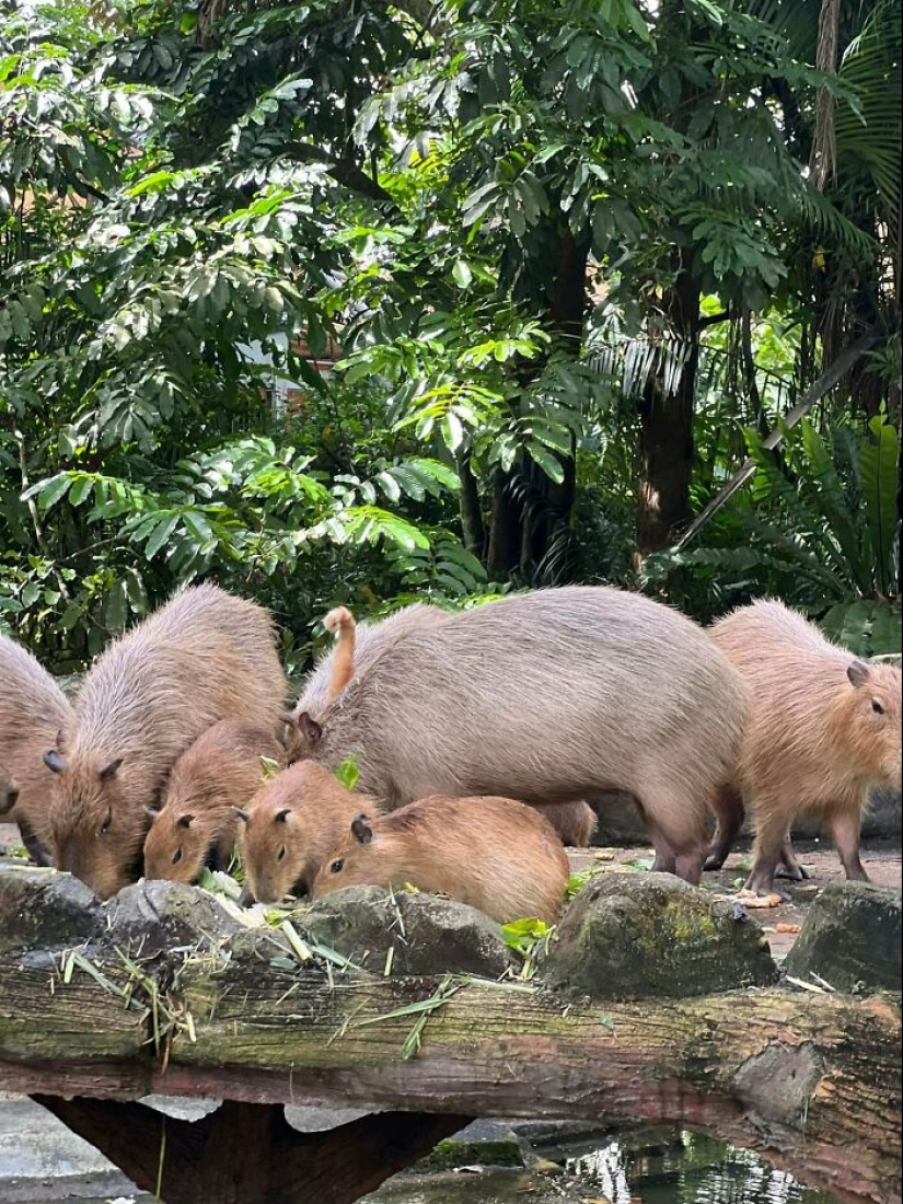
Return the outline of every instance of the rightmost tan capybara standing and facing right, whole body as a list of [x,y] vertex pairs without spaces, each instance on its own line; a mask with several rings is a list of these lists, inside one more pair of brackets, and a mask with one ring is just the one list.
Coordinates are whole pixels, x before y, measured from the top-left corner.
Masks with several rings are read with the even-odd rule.
[[716,798],[707,868],[724,864],[745,796],[756,830],[750,890],[771,891],[779,861],[803,877],[790,844],[801,814],[826,822],[846,877],[867,881],[867,790],[901,784],[901,671],[857,660],[781,602],[740,607],[714,625],[712,639],[746,680],[750,709],[738,768]]

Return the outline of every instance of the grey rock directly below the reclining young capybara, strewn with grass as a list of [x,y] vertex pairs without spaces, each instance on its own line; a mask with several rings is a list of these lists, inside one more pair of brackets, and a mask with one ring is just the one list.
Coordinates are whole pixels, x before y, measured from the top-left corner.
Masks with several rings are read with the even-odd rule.
[[[498,978],[512,963],[497,923],[464,903],[377,886],[349,886],[295,917],[312,939],[371,973]],[[391,951],[391,954],[390,954]]]

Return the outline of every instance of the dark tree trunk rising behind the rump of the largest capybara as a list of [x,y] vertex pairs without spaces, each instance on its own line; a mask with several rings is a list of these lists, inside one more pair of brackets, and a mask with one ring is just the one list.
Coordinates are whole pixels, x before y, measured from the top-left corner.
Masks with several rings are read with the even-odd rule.
[[698,281],[680,272],[665,294],[662,306],[669,334],[689,350],[673,388],[668,388],[666,366],[661,365],[643,391],[637,567],[650,551],[668,547],[690,519],[694,400],[700,359]]

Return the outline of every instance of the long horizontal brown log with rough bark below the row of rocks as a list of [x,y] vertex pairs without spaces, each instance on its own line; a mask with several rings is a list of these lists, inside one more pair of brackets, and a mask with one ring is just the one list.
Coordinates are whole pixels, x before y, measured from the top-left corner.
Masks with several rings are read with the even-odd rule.
[[[114,987],[131,981],[112,956],[98,964]],[[140,1004],[124,1008],[79,969],[64,984],[59,957],[0,954],[0,1090],[679,1123],[844,1204],[901,1204],[890,997],[769,988],[603,1008],[461,979],[406,1057],[425,1014],[399,1009],[433,997],[433,979],[330,981],[318,962],[293,973],[225,945],[153,973],[167,985],[159,1050]]]

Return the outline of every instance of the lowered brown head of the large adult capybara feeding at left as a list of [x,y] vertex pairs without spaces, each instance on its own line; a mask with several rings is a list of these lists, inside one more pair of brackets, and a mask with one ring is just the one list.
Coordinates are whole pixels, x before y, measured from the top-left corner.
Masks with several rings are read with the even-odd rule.
[[57,774],[49,816],[53,863],[99,898],[110,898],[135,881],[146,831],[143,813],[135,815],[126,805],[123,759],[92,763],[55,748],[43,762]]

